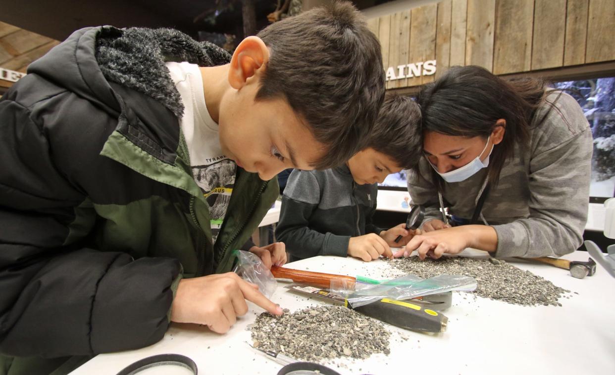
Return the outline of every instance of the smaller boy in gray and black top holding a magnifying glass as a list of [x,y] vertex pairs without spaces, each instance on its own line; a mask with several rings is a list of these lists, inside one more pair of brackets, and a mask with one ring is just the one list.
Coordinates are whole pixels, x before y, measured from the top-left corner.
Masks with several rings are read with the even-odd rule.
[[[326,171],[299,171],[288,177],[276,228],[291,261],[317,255],[355,257],[371,261],[392,258],[391,247],[405,245],[413,236],[405,223],[389,230],[372,222],[378,196],[377,182],[421,157],[418,104],[405,96],[389,96],[376,120],[367,147],[346,164]],[[402,236],[395,242],[397,236]]]

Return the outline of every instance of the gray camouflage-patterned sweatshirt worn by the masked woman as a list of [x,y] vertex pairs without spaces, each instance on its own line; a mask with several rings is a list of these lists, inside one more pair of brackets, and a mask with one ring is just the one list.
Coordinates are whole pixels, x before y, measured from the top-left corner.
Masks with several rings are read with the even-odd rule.
[[[554,92],[547,101],[554,106],[545,103],[539,108],[528,145],[515,145],[514,156],[504,164],[499,183],[491,186],[485,200],[482,221],[498,234],[494,257],[560,257],[581,245],[589,204],[592,132],[574,98]],[[419,168],[421,177],[408,174],[412,203],[426,206],[423,223],[442,220],[432,167],[423,158]],[[472,218],[487,171],[483,168],[467,180],[444,183],[443,203],[449,214]]]

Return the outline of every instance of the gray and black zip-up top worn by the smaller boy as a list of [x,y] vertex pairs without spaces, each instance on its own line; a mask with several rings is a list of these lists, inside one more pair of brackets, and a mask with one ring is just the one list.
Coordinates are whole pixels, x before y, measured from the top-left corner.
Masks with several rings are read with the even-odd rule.
[[346,257],[351,237],[381,232],[371,221],[377,195],[376,184],[355,184],[346,164],[325,171],[295,169],[282,196],[276,237],[286,244],[290,261]]

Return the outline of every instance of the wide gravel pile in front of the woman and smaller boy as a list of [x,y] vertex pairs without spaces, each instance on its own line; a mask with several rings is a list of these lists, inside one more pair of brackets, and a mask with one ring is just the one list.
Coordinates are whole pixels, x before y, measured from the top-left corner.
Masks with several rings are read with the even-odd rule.
[[561,306],[558,298],[570,293],[530,271],[523,271],[495,258],[442,257],[420,260],[419,257],[408,257],[391,260],[389,264],[404,274],[414,274],[423,279],[440,274],[471,276],[478,284],[473,292],[476,295],[523,306]]

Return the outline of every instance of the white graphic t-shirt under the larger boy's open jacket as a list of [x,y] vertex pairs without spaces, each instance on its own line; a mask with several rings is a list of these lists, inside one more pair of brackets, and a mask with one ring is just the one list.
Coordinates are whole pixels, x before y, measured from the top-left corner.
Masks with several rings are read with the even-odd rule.
[[216,242],[231,200],[237,164],[227,158],[220,147],[218,124],[205,106],[199,66],[190,63],[166,65],[184,104],[181,131],[188,145],[192,176],[209,204],[213,242]]

